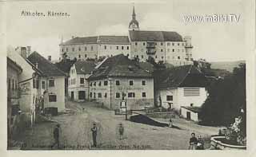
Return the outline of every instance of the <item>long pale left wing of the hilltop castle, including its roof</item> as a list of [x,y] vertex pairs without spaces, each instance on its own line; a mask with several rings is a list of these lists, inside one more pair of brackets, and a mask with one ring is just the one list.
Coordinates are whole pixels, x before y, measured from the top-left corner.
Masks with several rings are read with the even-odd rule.
[[121,53],[130,55],[130,41],[127,36],[73,37],[59,46],[61,57],[66,53],[70,59],[86,60]]

